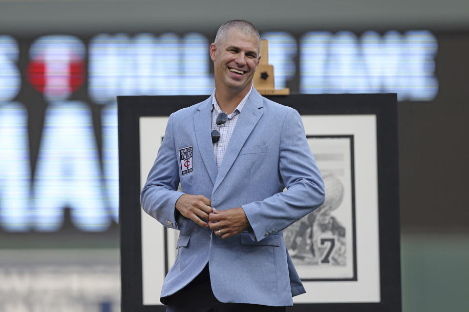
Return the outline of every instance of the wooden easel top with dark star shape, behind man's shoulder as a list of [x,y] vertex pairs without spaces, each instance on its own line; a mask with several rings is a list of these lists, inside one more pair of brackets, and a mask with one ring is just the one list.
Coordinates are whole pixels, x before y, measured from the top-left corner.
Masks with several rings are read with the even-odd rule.
[[287,96],[290,88],[275,90],[274,66],[269,65],[269,41],[261,40],[259,65],[254,74],[254,87],[263,96],[279,95]]

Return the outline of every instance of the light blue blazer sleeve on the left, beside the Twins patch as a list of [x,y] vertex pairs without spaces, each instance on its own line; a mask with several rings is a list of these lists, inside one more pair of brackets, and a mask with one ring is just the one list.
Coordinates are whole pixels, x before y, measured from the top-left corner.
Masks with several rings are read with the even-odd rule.
[[158,155],[142,189],[140,202],[143,210],[161,224],[178,229],[177,221],[180,223],[180,220],[176,218],[182,215],[176,214],[175,204],[184,193],[176,191],[179,185],[179,163],[175,153],[173,122],[171,114]]

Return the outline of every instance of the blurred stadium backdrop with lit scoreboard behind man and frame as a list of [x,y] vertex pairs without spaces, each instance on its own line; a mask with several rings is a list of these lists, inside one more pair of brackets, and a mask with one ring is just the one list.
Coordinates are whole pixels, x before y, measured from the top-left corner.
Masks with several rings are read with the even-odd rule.
[[468,1],[0,0],[0,311],[119,311],[115,97],[211,94],[231,19],[276,88],[398,94],[403,311],[467,310]]

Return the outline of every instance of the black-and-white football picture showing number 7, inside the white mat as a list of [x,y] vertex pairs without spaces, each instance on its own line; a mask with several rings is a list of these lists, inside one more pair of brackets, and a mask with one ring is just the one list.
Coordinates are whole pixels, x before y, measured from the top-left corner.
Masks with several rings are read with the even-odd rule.
[[357,280],[353,135],[306,135],[325,186],[318,209],[283,232],[303,282]]

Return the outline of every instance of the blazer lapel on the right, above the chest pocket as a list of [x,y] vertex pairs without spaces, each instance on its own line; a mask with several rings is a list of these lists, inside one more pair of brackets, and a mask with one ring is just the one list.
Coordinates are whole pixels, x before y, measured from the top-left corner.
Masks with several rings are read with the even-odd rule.
[[235,130],[230,138],[228,148],[221,162],[220,169],[218,170],[213,190],[215,190],[225,178],[226,174],[235,162],[239,151],[243,147],[244,142],[253,131],[259,118],[262,116],[263,111],[259,109],[261,107],[263,107],[262,96],[256,91],[256,89],[253,89],[241,110],[241,114],[239,114],[238,120],[236,121]]

